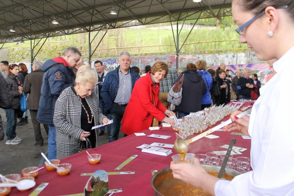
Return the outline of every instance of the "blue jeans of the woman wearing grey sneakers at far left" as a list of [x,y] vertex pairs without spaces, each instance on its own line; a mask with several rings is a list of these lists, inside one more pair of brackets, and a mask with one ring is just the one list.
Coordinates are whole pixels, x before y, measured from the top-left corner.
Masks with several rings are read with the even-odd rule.
[[5,110],[7,123],[6,123],[6,137],[7,140],[13,140],[16,137],[16,124],[17,124],[18,110],[8,109]]

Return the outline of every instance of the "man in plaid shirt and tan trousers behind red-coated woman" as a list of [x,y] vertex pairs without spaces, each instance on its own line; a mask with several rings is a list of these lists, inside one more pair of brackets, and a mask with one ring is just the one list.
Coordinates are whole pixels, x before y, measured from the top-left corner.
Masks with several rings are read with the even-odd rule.
[[[156,59],[155,61],[158,60]],[[178,78],[179,73],[176,69],[171,68],[171,66],[173,65],[171,59],[167,59],[166,64],[168,65],[168,75],[160,82],[159,100],[162,105],[168,108],[168,106],[171,105],[171,103],[167,101],[168,92],[171,90],[171,87],[173,87],[173,83]]]

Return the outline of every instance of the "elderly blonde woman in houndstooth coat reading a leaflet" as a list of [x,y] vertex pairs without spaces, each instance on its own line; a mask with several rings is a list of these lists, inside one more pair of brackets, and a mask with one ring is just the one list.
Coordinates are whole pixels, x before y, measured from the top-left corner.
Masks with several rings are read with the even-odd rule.
[[98,129],[91,128],[109,121],[100,111],[98,98],[93,93],[98,81],[96,71],[84,65],[78,69],[76,82],[64,89],[55,104],[53,123],[56,126],[56,157],[72,155],[85,137],[91,148],[98,146]]

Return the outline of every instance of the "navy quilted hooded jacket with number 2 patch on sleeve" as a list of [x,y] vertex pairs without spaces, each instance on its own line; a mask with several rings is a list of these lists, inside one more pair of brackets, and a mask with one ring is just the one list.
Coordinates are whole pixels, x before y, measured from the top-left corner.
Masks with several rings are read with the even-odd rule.
[[52,59],[45,61],[42,70],[45,74],[41,87],[37,120],[40,123],[54,126],[53,115],[55,102],[61,92],[75,82],[76,75],[69,66],[64,66]]

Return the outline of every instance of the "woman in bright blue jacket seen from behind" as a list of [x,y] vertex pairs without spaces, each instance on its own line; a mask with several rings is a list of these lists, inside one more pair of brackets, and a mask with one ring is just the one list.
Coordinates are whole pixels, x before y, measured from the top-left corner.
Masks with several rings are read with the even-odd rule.
[[211,95],[210,90],[212,88],[212,76],[210,73],[206,71],[207,63],[204,60],[199,60],[196,62],[197,73],[202,76],[205,85],[206,85],[206,93],[202,96],[201,100],[201,110],[204,108],[209,108],[211,106]]

